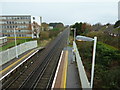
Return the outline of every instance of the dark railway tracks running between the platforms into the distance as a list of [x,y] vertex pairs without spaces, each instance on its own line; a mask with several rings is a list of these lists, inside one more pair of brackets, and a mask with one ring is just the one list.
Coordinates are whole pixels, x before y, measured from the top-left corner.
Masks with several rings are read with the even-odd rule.
[[[37,89],[50,88],[55,74],[59,56],[67,45],[69,30],[64,30],[46,48],[31,58],[32,64],[24,66],[15,79],[6,82],[3,89]],[[23,67],[22,67],[23,68]]]

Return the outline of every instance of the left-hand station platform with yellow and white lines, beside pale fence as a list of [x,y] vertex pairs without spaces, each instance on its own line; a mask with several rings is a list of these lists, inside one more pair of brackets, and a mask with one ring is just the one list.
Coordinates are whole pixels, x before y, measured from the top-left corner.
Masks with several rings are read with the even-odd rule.
[[25,53],[19,55],[18,58],[14,58],[14,59],[10,60],[9,62],[1,65],[0,66],[0,80],[2,80],[7,75],[9,75],[12,71],[14,71],[22,63],[24,63],[27,59],[29,59],[34,54],[36,54],[40,49],[43,49],[43,47],[28,50]]

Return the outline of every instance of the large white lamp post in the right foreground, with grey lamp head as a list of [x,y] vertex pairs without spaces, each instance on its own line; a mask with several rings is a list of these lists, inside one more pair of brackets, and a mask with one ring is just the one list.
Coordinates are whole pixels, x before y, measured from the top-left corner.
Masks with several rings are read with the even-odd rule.
[[89,38],[85,36],[77,36],[76,40],[78,41],[94,41],[94,47],[93,47],[93,57],[92,57],[92,70],[91,70],[91,82],[90,86],[93,87],[93,77],[94,77],[94,66],[95,66],[95,54],[96,54],[96,43],[97,43],[97,37]]

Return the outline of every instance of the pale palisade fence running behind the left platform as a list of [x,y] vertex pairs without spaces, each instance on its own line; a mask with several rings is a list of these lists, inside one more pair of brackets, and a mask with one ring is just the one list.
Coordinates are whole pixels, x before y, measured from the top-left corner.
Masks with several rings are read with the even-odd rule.
[[[37,47],[37,40],[25,42],[17,46],[18,55]],[[5,51],[0,52],[0,65],[5,64],[6,62],[14,59],[16,57],[16,47],[12,47]]]

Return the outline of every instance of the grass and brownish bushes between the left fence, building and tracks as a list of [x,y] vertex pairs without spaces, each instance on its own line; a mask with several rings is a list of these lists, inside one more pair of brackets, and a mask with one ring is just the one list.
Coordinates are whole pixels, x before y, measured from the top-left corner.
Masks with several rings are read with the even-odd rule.
[[[46,24],[43,23],[43,25],[45,26]],[[59,27],[59,25],[57,25],[57,28],[53,28],[53,30],[41,31],[40,38],[38,38],[38,39],[18,39],[17,45],[27,42],[27,41],[37,40],[38,46],[44,47],[52,39],[54,39],[63,29],[64,29],[64,27]],[[12,40],[12,41],[8,42],[6,45],[4,45],[3,47],[0,47],[0,51],[6,50],[6,49],[14,47],[14,46],[15,46],[15,41]]]

